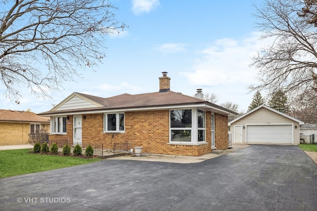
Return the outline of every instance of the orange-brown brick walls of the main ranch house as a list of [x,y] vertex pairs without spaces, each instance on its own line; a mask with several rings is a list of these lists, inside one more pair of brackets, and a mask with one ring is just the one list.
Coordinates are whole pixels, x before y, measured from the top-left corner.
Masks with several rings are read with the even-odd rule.
[[[211,152],[211,112],[206,112],[206,144],[180,145],[169,142],[169,110],[125,112],[125,133],[104,133],[104,115],[87,114],[82,120],[83,143],[103,143],[112,149],[113,143],[128,141],[131,147],[143,146],[143,153],[200,156]],[[219,123],[217,123],[220,121]],[[67,135],[50,135],[50,140],[72,140],[72,116],[67,124]],[[226,149],[226,116],[215,115],[215,144]],[[222,128],[223,127],[223,128]],[[218,134],[220,132],[221,134]],[[113,136],[113,137],[112,137]]]

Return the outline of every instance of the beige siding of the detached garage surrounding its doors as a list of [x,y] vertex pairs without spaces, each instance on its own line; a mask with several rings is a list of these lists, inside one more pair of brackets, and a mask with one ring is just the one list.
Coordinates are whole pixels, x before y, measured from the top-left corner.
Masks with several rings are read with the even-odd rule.
[[[293,140],[294,145],[299,144],[299,124],[296,121],[293,121],[287,117],[279,115],[269,109],[264,107],[250,113],[249,115],[237,120],[236,122],[232,123],[230,126],[231,136],[234,137],[234,126],[235,125],[242,125],[247,127],[248,125],[290,125],[293,124],[292,127],[297,125],[297,128],[293,128]],[[242,142],[246,143],[246,128],[242,130]]]

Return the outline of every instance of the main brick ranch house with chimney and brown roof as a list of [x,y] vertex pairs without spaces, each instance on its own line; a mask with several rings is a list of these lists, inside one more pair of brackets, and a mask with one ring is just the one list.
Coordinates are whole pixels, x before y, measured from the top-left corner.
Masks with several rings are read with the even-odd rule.
[[237,115],[196,97],[170,90],[166,72],[159,92],[103,98],[74,92],[52,110],[50,140],[103,143],[128,141],[143,153],[200,156],[228,148],[228,115]]

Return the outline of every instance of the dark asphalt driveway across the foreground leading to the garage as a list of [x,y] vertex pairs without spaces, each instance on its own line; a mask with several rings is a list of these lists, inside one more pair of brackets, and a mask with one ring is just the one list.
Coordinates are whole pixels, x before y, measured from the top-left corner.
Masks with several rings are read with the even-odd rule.
[[317,165],[279,145],[193,164],[103,160],[2,178],[0,210],[316,211]]

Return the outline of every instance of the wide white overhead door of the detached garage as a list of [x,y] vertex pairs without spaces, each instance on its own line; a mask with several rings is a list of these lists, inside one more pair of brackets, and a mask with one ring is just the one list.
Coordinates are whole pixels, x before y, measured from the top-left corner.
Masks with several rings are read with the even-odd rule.
[[292,125],[247,126],[248,143],[292,144]]

